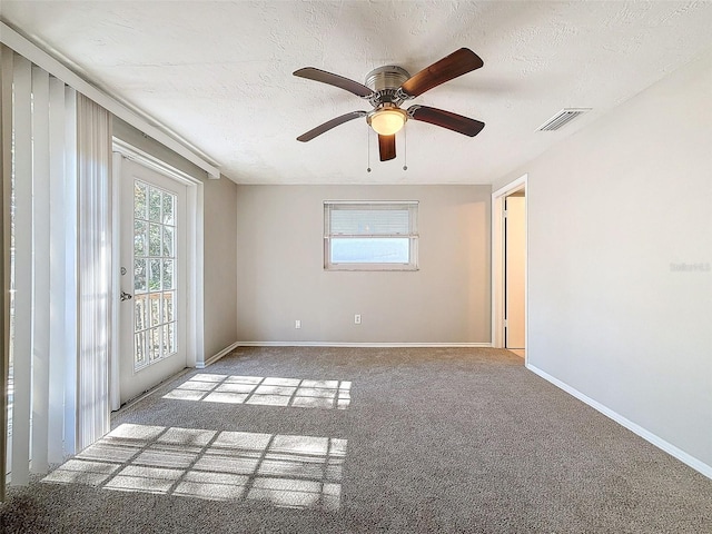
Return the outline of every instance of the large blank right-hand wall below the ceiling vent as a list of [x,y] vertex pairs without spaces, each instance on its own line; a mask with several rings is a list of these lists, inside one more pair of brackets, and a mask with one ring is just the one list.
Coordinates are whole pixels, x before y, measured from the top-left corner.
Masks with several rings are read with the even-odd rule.
[[712,466],[712,53],[524,172],[528,363]]

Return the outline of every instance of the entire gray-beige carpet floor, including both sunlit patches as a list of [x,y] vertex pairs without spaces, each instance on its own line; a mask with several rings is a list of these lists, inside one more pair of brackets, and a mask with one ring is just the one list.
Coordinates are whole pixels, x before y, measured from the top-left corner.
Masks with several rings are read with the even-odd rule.
[[244,348],[118,413],[4,533],[712,532],[712,481],[507,350]]

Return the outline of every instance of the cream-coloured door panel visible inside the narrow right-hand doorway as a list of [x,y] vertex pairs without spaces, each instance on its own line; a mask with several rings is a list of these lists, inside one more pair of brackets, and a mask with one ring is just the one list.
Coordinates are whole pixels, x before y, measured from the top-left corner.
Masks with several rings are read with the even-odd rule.
[[525,348],[526,216],[523,196],[504,199],[505,347]]

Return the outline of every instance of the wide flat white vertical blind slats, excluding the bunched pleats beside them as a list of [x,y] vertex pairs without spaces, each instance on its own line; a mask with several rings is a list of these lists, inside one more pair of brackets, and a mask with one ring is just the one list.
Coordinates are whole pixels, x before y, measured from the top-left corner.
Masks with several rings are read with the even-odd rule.
[[66,231],[77,206],[70,197],[76,181],[76,97],[61,80],[21,56],[7,49],[3,56],[12,99],[3,99],[2,106],[12,117],[13,146],[10,176],[3,176],[13,198],[8,471],[12,484],[21,485],[30,472],[46,473],[50,462],[75,452],[76,334],[63,318],[76,300],[76,243]]

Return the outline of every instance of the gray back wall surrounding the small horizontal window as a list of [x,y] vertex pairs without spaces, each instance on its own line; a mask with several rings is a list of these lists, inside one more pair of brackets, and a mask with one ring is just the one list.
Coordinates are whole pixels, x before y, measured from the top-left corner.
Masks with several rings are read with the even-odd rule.
[[[419,201],[418,271],[324,270],[324,200],[365,199]],[[490,199],[490,186],[238,186],[239,340],[488,343]]]

